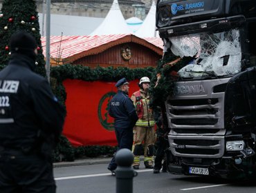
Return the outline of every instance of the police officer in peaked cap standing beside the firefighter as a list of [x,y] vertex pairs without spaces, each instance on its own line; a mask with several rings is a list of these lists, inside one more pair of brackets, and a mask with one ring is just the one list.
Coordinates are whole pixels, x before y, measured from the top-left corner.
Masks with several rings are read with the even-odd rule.
[[[116,88],[118,88],[118,93],[109,102],[109,115],[115,120],[114,127],[118,150],[122,148],[131,150],[133,143],[132,128],[134,128],[138,116],[135,112],[134,104],[128,96],[129,83],[127,80],[125,78],[120,79],[116,83]],[[116,160],[113,157],[107,169],[114,172],[116,167]]]

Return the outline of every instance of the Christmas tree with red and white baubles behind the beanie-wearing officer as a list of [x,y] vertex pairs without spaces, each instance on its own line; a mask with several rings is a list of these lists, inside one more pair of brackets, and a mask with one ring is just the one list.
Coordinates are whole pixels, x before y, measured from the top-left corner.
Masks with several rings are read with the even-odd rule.
[[46,76],[44,55],[42,54],[41,35],[37,6],[34,0],[5,0],[0,12],[0,65],[10,59],[9,40],[12,34],[22,30],[29,32],[37,41],[37,61],[35,71]]

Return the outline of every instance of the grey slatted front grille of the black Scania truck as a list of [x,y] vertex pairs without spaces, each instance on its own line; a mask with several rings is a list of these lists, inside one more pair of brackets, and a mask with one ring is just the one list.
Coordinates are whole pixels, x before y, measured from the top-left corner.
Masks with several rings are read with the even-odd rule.
[[[229,79],[177,82],[165,105],[174,156],[220,158],[225,150],[224,98]],[[200,88],[200,89],[197,89]]]

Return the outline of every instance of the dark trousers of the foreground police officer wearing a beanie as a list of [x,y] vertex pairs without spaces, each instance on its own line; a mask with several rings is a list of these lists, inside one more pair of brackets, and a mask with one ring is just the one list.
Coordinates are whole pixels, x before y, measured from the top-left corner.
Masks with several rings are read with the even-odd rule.
[[55,193],[52,163],[35,154],[0,152],[0,192]]

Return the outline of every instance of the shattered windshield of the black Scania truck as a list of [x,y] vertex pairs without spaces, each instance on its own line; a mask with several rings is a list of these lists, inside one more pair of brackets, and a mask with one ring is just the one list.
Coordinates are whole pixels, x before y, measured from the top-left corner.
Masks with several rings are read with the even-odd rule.
[[227,76],[241,72],[239,30],[171,37],[172,53],[194,59],[179,70],[181,77]]

